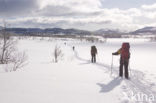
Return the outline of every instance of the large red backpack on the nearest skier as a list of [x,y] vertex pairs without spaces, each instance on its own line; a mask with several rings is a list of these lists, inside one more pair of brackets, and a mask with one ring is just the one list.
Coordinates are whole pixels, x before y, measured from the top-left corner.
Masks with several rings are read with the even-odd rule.
[[123,43],[121,48],[121,58],[122,60],[128,60],[130,58],[130,45],[129,43]]

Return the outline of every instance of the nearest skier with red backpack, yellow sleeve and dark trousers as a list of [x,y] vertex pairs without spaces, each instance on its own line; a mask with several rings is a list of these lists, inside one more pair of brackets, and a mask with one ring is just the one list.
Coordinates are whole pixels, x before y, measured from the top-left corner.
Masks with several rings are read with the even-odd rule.
[[119,76],[123,76],[123,67],[125,70],[125,78],[129,79],[129,73],[128,73],[128,65],[129,65],[129,59],[130,59],[130,45],[129,43],[123,43],[122,47],[115,53],[112,53],[112,55],[119,55],[120,54],[120,68],[119,68]]

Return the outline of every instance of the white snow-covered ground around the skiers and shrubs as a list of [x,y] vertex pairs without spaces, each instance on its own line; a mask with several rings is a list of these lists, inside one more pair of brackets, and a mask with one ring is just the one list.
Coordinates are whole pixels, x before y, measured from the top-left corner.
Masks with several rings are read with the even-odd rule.
[[[112,52],[131,43],[130,80],[118,78],[119,56]],[[66,45],[64,44],[66,42]],[[64,57],[53,62],[59,45]],[[90,46],[98,49],[97,63],[90,63]],[[72,50],[75,46],[75,51]],[[0,68],[0,103],[156,103],[156,43],[146,39],[84,41],[20,40],[29,64],[16,72]],[[2,67],[2,66],[0,66]]]

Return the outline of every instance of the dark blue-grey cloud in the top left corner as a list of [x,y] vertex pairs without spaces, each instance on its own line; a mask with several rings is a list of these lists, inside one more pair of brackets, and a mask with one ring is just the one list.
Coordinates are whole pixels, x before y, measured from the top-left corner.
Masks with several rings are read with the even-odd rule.
[[0,16],[30,15],[37,8],[37,0],[0,0]]

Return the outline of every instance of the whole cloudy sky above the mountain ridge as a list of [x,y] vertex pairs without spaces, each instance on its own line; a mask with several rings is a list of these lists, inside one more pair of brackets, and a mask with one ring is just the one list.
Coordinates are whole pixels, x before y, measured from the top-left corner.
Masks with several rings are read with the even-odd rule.
[[156,26],[156,0],[0,0],[0,25],[132,31]]

